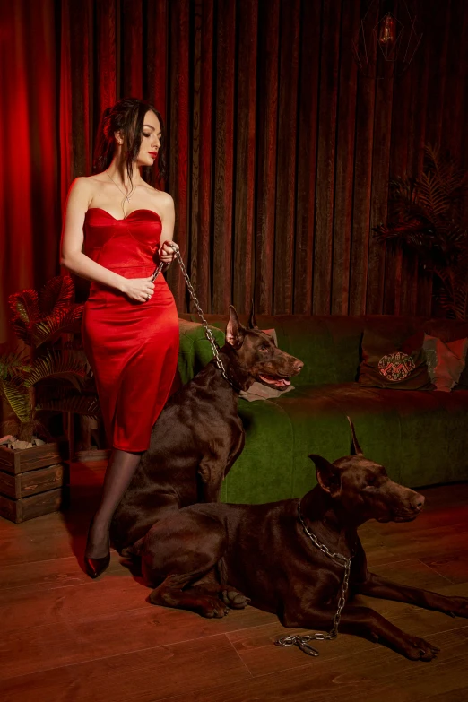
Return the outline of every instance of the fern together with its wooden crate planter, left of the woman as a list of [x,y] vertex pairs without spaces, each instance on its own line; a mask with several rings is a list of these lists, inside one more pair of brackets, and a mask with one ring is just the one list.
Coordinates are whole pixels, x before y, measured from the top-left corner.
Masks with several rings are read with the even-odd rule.
[[83,306],[73,298],[70,276],[9,298],[13,330],[29,347],[0,350],[0,394],[11,415],[1,426],[0,515],[16,522],[55,511],[62,501],[68,446],[52,436],[51,415],[99,416],[80,342],[63,342],[64,334],[80,331]]

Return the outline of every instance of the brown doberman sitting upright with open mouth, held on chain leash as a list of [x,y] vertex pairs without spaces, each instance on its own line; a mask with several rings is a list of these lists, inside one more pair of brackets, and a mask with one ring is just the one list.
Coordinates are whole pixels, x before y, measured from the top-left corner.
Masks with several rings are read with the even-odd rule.
[[244,447],[240,389],[258,381],[284,390],[304,365],[258,329],[253,309],[246,328],[230,307],[220,356],[232,385],[212,360],[169,398],[152,428],[150,446],[110,527],[111,542],[124,556],[132,555],[134,542],[161,516],[219,499],[221,482]]

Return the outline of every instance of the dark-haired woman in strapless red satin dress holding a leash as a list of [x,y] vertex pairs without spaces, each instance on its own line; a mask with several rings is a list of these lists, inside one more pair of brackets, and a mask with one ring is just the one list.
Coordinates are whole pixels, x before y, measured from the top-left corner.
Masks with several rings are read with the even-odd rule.
[[[82,340],[90,361],[112,453],[91,520],[85,568],[108,567],[108,530],[169,396],[178,360],[178,312],[163,277],[174,230],[174,203],[140,170],[157,160],[165,176],[164,125],[142,100],[104,111],[89,178],[75,178],[66,201],[61,263],[91,280]],[[84,252],[82,245],[84,242]]]

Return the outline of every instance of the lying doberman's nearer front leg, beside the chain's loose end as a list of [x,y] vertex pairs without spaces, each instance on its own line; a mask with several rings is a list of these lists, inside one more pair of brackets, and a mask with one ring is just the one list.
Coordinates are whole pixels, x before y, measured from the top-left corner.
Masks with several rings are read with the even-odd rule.
[[[334,607],[327,606],[300,612],[299,615],[285,613],[281,619],[285,627],[326,631],[333,627],[335,612]],[[339,631],[381,643],[412,661],[430,661],[438,653],[436,646],[432,646],[423,638],[407,634],[369,607],[347,604],[342,610]]]

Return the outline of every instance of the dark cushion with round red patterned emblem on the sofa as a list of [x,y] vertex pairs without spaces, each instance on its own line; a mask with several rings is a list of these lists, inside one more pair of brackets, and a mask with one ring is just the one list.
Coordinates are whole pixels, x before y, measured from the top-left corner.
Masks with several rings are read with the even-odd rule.
[[422,390],[431,387],[421,330],[403,339],[364,330],[358,382],[362,386]]

